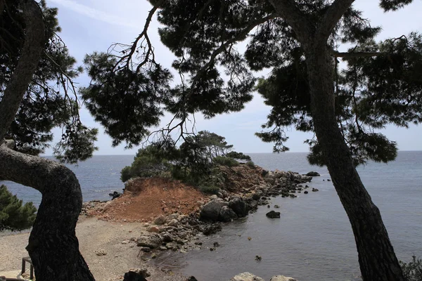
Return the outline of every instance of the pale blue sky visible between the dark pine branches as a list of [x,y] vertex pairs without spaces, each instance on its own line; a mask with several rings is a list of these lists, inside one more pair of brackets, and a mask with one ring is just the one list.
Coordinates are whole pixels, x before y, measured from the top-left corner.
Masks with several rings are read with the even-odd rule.
[[[82,65],[84,56],[94,51],[107,51],[113,43],[130,44],[141,32],[151,5],[146,0],[46,0],[50,7],[58,8],[58,20],[62,27],[60,37],[67,44],[70,54]],[[383,31],[378,39],[399,37],[411,31],[422,32],[422,1],[415,0],[399,11],[383,13],[378,7],[378,1],[358,0],[354,6],[364,12],[364,17],[371,20],[371,25],[381,25]],[[158,22],[151,22],[149,35],[158,63],[170,68],[174,55],[163,46],[158,37]],[[345,51],[340,49],[340,51]],[[88,86],[89,77],[82,74],[75,79],[78,86]],[[207,130],[226,137],[226,141],[241,152],[271,152],[272,144],[263,143],[255,136],[260,126],[266,122],[270,107],[264,105],[262,98],[255,93],[253,100],[241,112],[219,115],[213,119],[203,119],[196,115],[196,130]],[[111,138],[104,133],[87,110],[80,112],[82,122],[90,127],[96,127],[100,133],[95,155],[134,155],[138,148],[124,149],[124,144],[115,148]],[[170,116],[163,118],[162,124],[167,124]],[[422,126],[409,126],[409,129],[388,126],[381,131],[390,140],[396,141],[399,150],[422,150]],[[312,134],[287,129],[290,139],[286,145],[290,152],[308,152],[305,139]],[[55,131],[55,140],[60,137],[60,131]],[[46,150],[51,155],[52,150]]]

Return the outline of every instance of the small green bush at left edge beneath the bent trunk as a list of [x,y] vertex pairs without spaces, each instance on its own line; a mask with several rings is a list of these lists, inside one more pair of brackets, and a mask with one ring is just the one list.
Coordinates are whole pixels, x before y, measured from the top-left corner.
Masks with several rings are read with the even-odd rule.
[[5,185],[0,186],[0,230],[23,230],[31,228],[37,208],[32,202],[22,205],[16,195],[12,195]]

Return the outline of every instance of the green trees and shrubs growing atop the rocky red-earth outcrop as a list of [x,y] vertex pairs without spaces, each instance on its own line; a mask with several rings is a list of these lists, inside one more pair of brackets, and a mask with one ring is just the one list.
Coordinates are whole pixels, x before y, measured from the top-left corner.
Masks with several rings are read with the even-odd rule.
[[238,160],[250,159],[242,152],[230,151],[232,148],[223,136],[208,131],[186,136],[179,148],[169,137],[139,149],[132,165],[122,169],[120,179],[125,182],[135,177],[173,178],[215,194],[224,183],[219,166],[234,167],[239,165]]

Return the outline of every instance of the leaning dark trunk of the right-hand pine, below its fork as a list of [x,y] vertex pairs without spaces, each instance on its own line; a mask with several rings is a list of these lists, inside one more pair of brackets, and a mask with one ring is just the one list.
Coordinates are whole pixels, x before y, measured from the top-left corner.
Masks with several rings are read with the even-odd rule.
[[354,168],[335,118],[333,58],[326,44],[309,45],[305,50],[314,129],[333,185],[352,225],[362,278],[364,281],[404,280],[380,211]]

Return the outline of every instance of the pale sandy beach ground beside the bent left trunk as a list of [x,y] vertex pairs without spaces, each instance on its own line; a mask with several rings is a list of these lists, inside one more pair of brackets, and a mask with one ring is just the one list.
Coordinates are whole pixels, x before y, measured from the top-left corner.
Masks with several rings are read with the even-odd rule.
[[[147,267],[151,273],[148,281],[186,280],[186,277],[165,273],[141,260],[139,247],[135,242],[128,242],[132,237],[138,237],[141,230],[144,230],[141,223],[113,223],[84,216],[79,218],[76,227],[79,249],[96,280],[122,280],[130,268],[142,267]],[[22,257],[28,255],[25,247],[29,235],[23,233],[0,237],[0,272],[20,269]],[[98,256],[98,251],[106,255]]]

